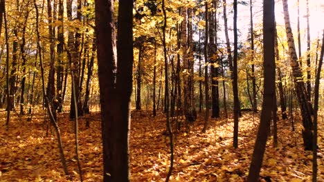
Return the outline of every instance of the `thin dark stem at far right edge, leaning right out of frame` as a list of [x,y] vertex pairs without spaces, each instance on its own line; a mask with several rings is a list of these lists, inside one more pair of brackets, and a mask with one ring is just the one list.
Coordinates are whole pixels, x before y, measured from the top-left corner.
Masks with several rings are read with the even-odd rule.
[[320,60],[318,62],[318,69],[317,69],[315,87],[314,87],[314,138],[313,138],[313,175],[312,175],[313,182],[317,181],[317,170],[318,170],[317,169],[317,138],[318,138],[317,112],[318,112],[318,90],[319,90],[320,79],[321,79],[323,57],[324,57],[324,30],[323,30],[321,55],[320,55]]

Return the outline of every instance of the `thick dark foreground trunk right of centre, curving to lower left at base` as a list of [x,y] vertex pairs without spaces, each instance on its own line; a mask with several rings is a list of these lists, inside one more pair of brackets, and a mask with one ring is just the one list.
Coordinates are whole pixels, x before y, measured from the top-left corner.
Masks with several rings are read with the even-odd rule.
[[274,1],[263,1],[263,66],[264,66],[264,94],[260,125],[254,145],[253,157],[249,169],[247,181],[258,181],[262,165],[267,136],[271,122],[271,112],[273,110],[273,98],[276,96],[276,63],[275,63],[275,15]]

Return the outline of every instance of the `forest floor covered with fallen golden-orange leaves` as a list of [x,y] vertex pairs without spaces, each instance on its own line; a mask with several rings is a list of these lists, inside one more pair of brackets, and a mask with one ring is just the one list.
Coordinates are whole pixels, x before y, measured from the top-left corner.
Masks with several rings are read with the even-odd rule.
[[[45,116],[44,116],[45,115]],[[58,114],[64,154],[73,181],[79,181],[75,160],[73,122],[69,114]],[[211,119],[206,133],[203,115],[190,132],[178,132],[174,146],[171,181],[244,181],[251,163],[259,114],[243,112],[240,118],[239,148],[233,148],[233,120]],[[231,118],[231,116],[230,116]],[[6,111],[0,111],[0,181],[69,181],[64,176],[55,132],[46,128],[44,111],[10,117],[5,130]],[[90,128],[85,127],[90,121]],[[295,131],[290,120],[278,121],[278,148],[272,137],[267,143],[260,175],[271,181],[311,181],[312,152],[303,150],[302,126],[296,117]],[[80,117],[79,154],[84,181],[102,181],[100,115]],[[324,181],[324,121],[318,119],[318,181]],[[185,130],[184,127],[181,130]],[[132,112],[130,133],[130,172],[132,181],[164,181],[169,158],[169,139],[165,136],[165,116],[151,112]]]

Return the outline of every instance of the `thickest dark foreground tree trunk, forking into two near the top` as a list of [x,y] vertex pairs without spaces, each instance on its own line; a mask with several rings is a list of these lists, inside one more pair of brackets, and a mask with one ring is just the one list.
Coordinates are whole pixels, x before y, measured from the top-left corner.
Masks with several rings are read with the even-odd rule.
[[133,1],[119,1],[117,57],[114,52],[116,46],[114,1],[96,0],[95,7],[104,181],[129,181],[128,135],[133,68]]

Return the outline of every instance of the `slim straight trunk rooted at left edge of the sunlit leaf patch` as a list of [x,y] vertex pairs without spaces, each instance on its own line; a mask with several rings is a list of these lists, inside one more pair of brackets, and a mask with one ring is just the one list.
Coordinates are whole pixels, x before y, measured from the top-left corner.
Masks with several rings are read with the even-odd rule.
[[208,2],[205,2],[205,48],[204,48],[204,55],[205,55],[205,123],[202,132],[206,132],[208,125],[209,125],[209,85],[208,85]]

